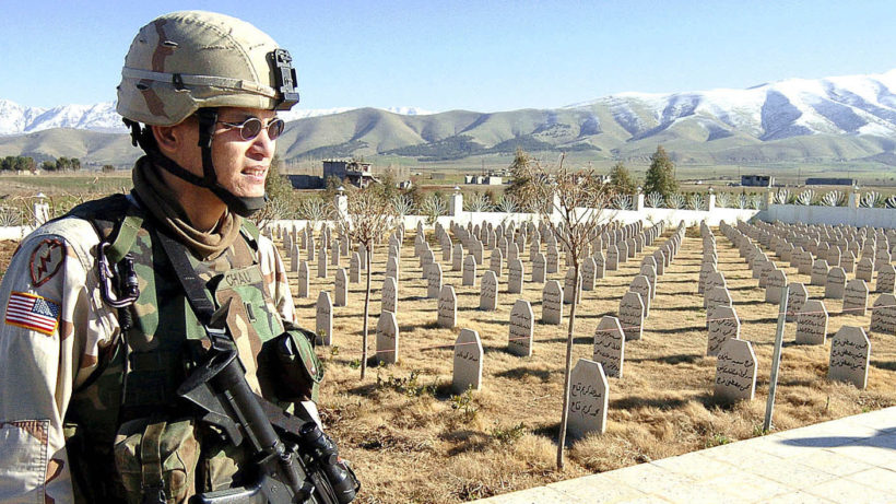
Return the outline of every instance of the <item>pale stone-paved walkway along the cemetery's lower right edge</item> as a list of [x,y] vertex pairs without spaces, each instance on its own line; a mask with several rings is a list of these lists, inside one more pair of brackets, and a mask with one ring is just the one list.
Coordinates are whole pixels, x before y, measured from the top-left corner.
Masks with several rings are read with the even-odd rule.
[[896,503],[896,407],[474,502]]

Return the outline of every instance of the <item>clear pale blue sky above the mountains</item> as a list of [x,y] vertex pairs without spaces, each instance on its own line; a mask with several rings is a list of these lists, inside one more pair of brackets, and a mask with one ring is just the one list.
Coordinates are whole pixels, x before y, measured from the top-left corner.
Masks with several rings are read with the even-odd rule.
[[896,68],[894,1],[0,0],[0,98],[115,99],[138,28],[181,9],[290,50],[300,108],[546,108],[623,91],[748,87]]

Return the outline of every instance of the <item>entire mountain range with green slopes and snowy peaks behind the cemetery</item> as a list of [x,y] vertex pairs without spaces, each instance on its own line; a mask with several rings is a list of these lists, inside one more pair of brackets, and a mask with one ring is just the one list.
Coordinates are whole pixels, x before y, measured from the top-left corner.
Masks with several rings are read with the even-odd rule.
[[[98,130],[24,134],[54,137],[56,141],[69,137],[62,142],[67,149],[42,145],[38,138],[23,141],[21,133],[7,134],[0,137],[0,154],[19,150],[51,156],[50,152],[66,151],[61,155],[116,159],[122,164],[127,160],[119,159],[123,151],[117,144],[128,142],[127,136],[118,133],[120,140],[103,141],[74,138],[123,131],[103,129],[117,115],[110,103],[99,105],[40,112],[0,99],[0,131],[4,125],[21,127],[28,118],[34,122],[40,117],[43,124]],[[4,110],[19,114],[17,119],[9,119],[14,114]],[[554,109],[394,110],[404,114],[370,107],[287,113],[279,152],[287,161],[400,156],[435,162],[507,154],[521,146],[537,152],[581,152],[606,160],[649,155],[662,143],[680,160],[695,163],[896,159],[896,70],[788,79],[745,90],[626,92]]]

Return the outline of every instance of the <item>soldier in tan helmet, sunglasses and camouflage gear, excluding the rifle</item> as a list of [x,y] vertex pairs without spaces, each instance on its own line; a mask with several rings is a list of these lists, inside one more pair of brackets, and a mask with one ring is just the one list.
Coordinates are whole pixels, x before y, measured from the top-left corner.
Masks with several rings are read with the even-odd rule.
[[297,102],[288,52],[246,22],[175,12],[140,30],[118,86],[145,151],[133,190],[40,226],[0,284],[0,502],[186,502],[257,477],[178,387],[210,347],[204,300],[255,392],[316,396],[314,335],[245,219],[264,202],[276,110]]

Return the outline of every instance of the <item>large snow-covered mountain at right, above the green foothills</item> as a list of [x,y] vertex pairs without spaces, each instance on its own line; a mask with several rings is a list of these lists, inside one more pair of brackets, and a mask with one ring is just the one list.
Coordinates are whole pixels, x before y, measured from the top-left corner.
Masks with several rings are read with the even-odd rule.
[[896,70],[868,75],[788,79],[746,90],[620,93],[568,109],[605,107],[634,139],[695,122],[708,140],[732,130],[758,140],[803,134],[896,136]]

